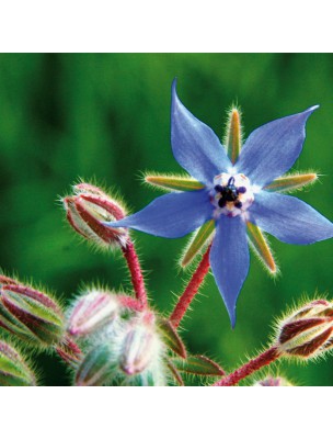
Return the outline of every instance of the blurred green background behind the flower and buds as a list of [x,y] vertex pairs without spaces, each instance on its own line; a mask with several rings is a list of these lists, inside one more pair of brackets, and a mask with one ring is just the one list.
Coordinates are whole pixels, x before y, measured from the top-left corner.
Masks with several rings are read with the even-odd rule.
[[[34,279],[66,301],[82,283],[127,288],[125,264],[114,254],[91,251],[65,224],[57,199],[78,177],[119,191],[133,211],[158,192],[140,172],[179,172],[170,147],[170,90],[198,119],[222,135],[226,109],[238,102],[245,135],[274,119],[320,104],[309,120],[296,170],[322,178],[297,196],[333,218],[333,56],[325,54],[3,54],[0,55],[0,267]],[[147,271],[150,297],[170,312],[184,274],[176,266],[186,238],[134,233]],[[297,247],[271,239],[282,275],[269,279],[252,256],[229,318],[213,277],[185,318],[183,336],[194,353],[232,370],[272,334],[287,305],[315,291],[333,295],[332,241]],[[186,274],[188,275],[188,273]],[[55,357],[34,354],[45,385],[69,383]],[[331,385],[332,358],[278,370],[302,385]]]

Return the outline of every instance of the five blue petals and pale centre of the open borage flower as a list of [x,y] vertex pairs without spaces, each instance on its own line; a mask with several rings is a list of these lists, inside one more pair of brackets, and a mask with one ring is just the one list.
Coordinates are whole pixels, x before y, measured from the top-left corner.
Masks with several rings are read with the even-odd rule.
[[250,264],[246,223],[288,244],[312,244],[333,236],[333,224],[310,205],[264,190],[298,158],[306,138],[306,122],[317,108],[255,130],[232,164],[213,130],[182,104],[174,80],[173,155],[203,189],[159,196],[134,215],[106,224],[179,238],[214,219],[210,266],[234,326],[236,303]]

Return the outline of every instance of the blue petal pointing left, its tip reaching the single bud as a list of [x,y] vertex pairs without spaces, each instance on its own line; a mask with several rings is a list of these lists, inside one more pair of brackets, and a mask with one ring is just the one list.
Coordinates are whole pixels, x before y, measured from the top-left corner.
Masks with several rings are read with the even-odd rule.
[[124,219],[105,223],[111,227],[129,227],[164,238],[180,238],[202,226],[213,216],[206,189],[168,193]]

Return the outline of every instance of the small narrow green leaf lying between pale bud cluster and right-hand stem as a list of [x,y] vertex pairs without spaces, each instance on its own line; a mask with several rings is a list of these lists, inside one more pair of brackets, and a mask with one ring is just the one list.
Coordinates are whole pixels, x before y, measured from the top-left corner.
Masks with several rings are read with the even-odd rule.
[[186,360],[174,359],[173,363],[180,372],[195,375],[222,376],[226,374],[218,363],[205,356],[192,356],[187,357]]

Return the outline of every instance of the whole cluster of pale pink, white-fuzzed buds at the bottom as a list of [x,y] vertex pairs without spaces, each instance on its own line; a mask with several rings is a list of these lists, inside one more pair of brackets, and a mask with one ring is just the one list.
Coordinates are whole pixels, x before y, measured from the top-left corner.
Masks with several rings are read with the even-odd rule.
[[107,291],[91,291],[71,308],[68,333],[87,354],[76,385],[164,385],[163,342],[150,311]]

